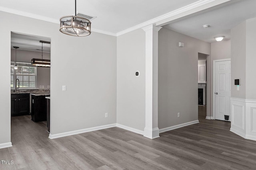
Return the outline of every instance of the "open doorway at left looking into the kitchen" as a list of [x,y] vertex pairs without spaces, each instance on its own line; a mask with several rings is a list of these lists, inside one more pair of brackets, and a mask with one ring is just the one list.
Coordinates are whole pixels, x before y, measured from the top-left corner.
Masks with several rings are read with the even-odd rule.
[[50,41],[48,37],[11,32],[10,115],[13,145],[24,137],[26,139],[22,142],[38,134],[46,139],[49,135],[46,96],[50,96]]

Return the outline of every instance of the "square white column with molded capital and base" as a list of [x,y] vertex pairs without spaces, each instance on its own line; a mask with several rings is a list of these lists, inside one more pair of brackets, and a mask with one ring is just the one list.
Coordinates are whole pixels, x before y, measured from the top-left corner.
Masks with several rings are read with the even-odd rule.
[[158,129],[158,31],[162,27],[151,24],[146,32],[146,119],[144,137],[159,137]]

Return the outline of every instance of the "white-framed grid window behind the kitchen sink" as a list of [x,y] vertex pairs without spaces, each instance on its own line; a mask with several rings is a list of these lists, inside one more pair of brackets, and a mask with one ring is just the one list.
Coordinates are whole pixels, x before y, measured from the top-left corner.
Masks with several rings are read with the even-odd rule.
[[36,67],[26,63],[18,64],[18,70],[14,70],[14,65],[11,65],[11,88],[15,88],[16,78],[20,81],[20,88],[36,88]]

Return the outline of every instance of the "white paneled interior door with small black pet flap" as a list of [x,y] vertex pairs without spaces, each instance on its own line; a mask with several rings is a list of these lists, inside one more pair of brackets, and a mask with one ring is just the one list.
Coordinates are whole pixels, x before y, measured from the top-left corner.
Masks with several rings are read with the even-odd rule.
[[215,119],[218,120],[230,121],[230,73],[230,60],[215,62]]

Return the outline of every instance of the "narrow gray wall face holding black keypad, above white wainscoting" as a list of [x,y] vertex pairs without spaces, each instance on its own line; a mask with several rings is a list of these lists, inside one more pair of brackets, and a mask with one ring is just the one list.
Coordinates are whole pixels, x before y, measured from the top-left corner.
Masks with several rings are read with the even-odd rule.
[[231,84],[232,98],[246,98],[246,21],[231,29],[231,83],[241,79],[239,91]]

